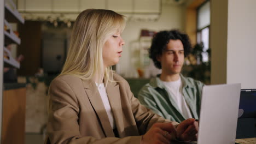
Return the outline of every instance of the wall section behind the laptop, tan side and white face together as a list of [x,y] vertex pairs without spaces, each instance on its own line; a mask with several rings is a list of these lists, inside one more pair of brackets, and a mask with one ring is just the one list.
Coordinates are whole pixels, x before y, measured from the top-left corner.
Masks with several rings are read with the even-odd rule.
[[211,1],[211,83],[256,88],[256,1]]

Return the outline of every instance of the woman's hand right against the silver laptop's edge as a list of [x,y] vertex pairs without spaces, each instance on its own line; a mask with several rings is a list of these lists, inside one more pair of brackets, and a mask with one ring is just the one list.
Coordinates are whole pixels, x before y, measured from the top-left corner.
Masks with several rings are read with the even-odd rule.
[[194,118],[186,119],[177,127],[178,139],[182,141],[197,141],[198,123]]

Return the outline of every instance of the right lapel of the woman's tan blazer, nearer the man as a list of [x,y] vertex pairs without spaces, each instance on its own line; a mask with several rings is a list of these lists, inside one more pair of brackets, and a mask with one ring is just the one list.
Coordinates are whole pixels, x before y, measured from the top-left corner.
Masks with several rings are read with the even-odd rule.
[[[104,85],[106,86],[106,83],[104,83]],[[119,133],[119,137],[124,137],[123,111],[121,106],[120,90],[118,83],[108,82],[106,91],[108,94],[109,103],[113,112],[113,117]]]

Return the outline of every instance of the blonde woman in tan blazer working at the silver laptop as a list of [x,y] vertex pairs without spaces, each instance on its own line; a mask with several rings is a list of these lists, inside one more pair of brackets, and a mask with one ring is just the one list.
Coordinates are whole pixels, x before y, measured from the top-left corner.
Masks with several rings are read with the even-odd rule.
[[125,44],[124,16],[87,9],[75,20],[62,73],[49,89],[48,143],[170,143],[195,140],[197,123],[171,122],[141,105],[111,70]]

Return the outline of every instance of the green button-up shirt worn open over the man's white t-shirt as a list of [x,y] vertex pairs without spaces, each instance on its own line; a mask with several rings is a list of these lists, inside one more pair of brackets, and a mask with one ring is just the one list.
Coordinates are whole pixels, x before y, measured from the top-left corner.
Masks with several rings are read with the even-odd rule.
[[[190,77],[181,75],[182,94],[187,102],[190,112],[195,119],[199,119],[202,87],[204,84]],[[178,109],[176,101],[171,97],[159,76],[154,77],[138,93],[141,104],[152,109],[158,115],[181,123],[185,120],[181,110]]]

